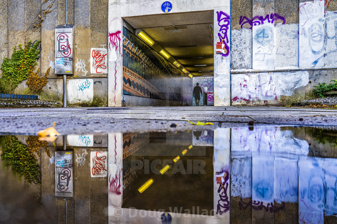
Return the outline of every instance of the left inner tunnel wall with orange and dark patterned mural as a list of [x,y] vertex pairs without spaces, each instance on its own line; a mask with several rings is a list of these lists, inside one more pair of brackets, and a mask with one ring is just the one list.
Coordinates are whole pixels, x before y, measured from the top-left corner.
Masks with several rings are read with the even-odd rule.
[[189,77],[123,27],[124,95],[190,105],[190,85]]

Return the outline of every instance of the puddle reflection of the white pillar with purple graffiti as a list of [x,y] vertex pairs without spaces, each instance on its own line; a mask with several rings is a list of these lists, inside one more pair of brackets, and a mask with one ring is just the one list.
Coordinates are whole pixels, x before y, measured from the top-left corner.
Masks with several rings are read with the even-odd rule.
[[229,201],[231,198],[230,171],[230,128],[214,130],[214,218],[229,222]]

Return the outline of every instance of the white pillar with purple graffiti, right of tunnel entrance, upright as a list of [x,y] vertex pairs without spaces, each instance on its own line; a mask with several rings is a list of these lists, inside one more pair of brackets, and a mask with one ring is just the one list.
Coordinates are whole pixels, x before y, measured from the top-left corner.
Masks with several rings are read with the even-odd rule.
[[217,42],[223,42],[224,53],[214,54],[214,106],[231,104],[231,6],[214,8],[214,53]]

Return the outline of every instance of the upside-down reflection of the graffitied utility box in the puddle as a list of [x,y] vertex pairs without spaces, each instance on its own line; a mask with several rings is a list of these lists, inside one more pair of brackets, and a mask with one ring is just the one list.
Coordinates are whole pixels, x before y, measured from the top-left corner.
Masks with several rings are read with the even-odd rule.
[[72,151],[55,151],[55,196],[72,197]]

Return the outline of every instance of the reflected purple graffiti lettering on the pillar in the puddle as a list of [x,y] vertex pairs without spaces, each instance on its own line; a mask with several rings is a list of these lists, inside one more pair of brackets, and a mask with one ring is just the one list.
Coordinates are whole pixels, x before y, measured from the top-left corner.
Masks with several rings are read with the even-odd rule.
[[[219,189],[218,189],[220,200],[218,200],[218,205],[217,205],[217,208],[216,208],[216,214],[222,215],[222,214],[229,211],[229,199],[228,199],[228,196],[227,196],[227,188],[228,188],[227,181],[228,181],[228,179],[229,179],[229,172],[225,171],[224,177],[221,178],[222,183],[220,184]],[[221,192],[221,190],[223,190],[223,191]]]

